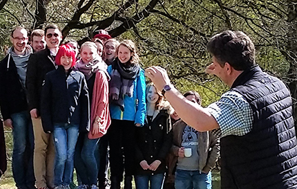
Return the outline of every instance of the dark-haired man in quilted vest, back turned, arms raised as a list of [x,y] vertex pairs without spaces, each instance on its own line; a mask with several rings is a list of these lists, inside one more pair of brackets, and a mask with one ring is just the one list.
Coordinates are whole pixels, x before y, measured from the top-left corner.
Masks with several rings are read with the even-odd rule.
[[185,123],[200,132],[213,130],[221,145],[221,188],[297,187],[297,141],[290,92],[262,72],[255,47],[240,31],[224,31],[207,45],[213,63],[207,73],[231,89],[207,108],[186,100],[166,71],[146,69]]

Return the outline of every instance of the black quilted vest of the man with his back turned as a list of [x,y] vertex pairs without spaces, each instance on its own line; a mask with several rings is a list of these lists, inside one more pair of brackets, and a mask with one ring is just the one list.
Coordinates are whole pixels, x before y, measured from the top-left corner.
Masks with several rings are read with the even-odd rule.
[[297,188],[297,145],[289,90],[253,66],[231,87],[251,105],[253,128],[221,138],[221,188]]

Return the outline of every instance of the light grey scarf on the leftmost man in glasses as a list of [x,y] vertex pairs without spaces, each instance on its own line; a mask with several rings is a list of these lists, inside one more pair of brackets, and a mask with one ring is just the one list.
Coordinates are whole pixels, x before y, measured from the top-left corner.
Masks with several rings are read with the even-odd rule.
[[[19,74],[19,79],[24,88],[26,88],[26,72],[28,66],[28,60],[32,53],[31,46],[27,45],[25,50],[25,55],[17,55],[13,48],[10,48],[9,53],[15,62],[15,66],[17,67],[17,73]],[[9,62],[8,62],[9,64]]]

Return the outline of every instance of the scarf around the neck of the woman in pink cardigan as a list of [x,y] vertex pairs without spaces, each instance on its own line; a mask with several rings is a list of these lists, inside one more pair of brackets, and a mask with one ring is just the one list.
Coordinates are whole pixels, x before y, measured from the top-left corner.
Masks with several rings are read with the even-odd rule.
[[80,59],[75,65],[75,70],[84,73],[86,80],[89,80],[94,75],[94,73],[97,73],[97,71],[99,71],[99,69],[107,69],[107,65],[99,56],[95,57],[92,62],[88,62],[88,64],[85,64],[84,62],[82,62],[82,59]]

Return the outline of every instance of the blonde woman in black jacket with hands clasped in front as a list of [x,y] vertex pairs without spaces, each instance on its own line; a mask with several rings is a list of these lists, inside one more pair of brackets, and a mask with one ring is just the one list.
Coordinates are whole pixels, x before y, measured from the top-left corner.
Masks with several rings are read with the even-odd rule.
[[146,109],[144,126],[135,131],[135,184],[137,189],[148,189],[150,182],[151,189],[160,189],[172,144],[171,108],[152,83],[146,86]]

